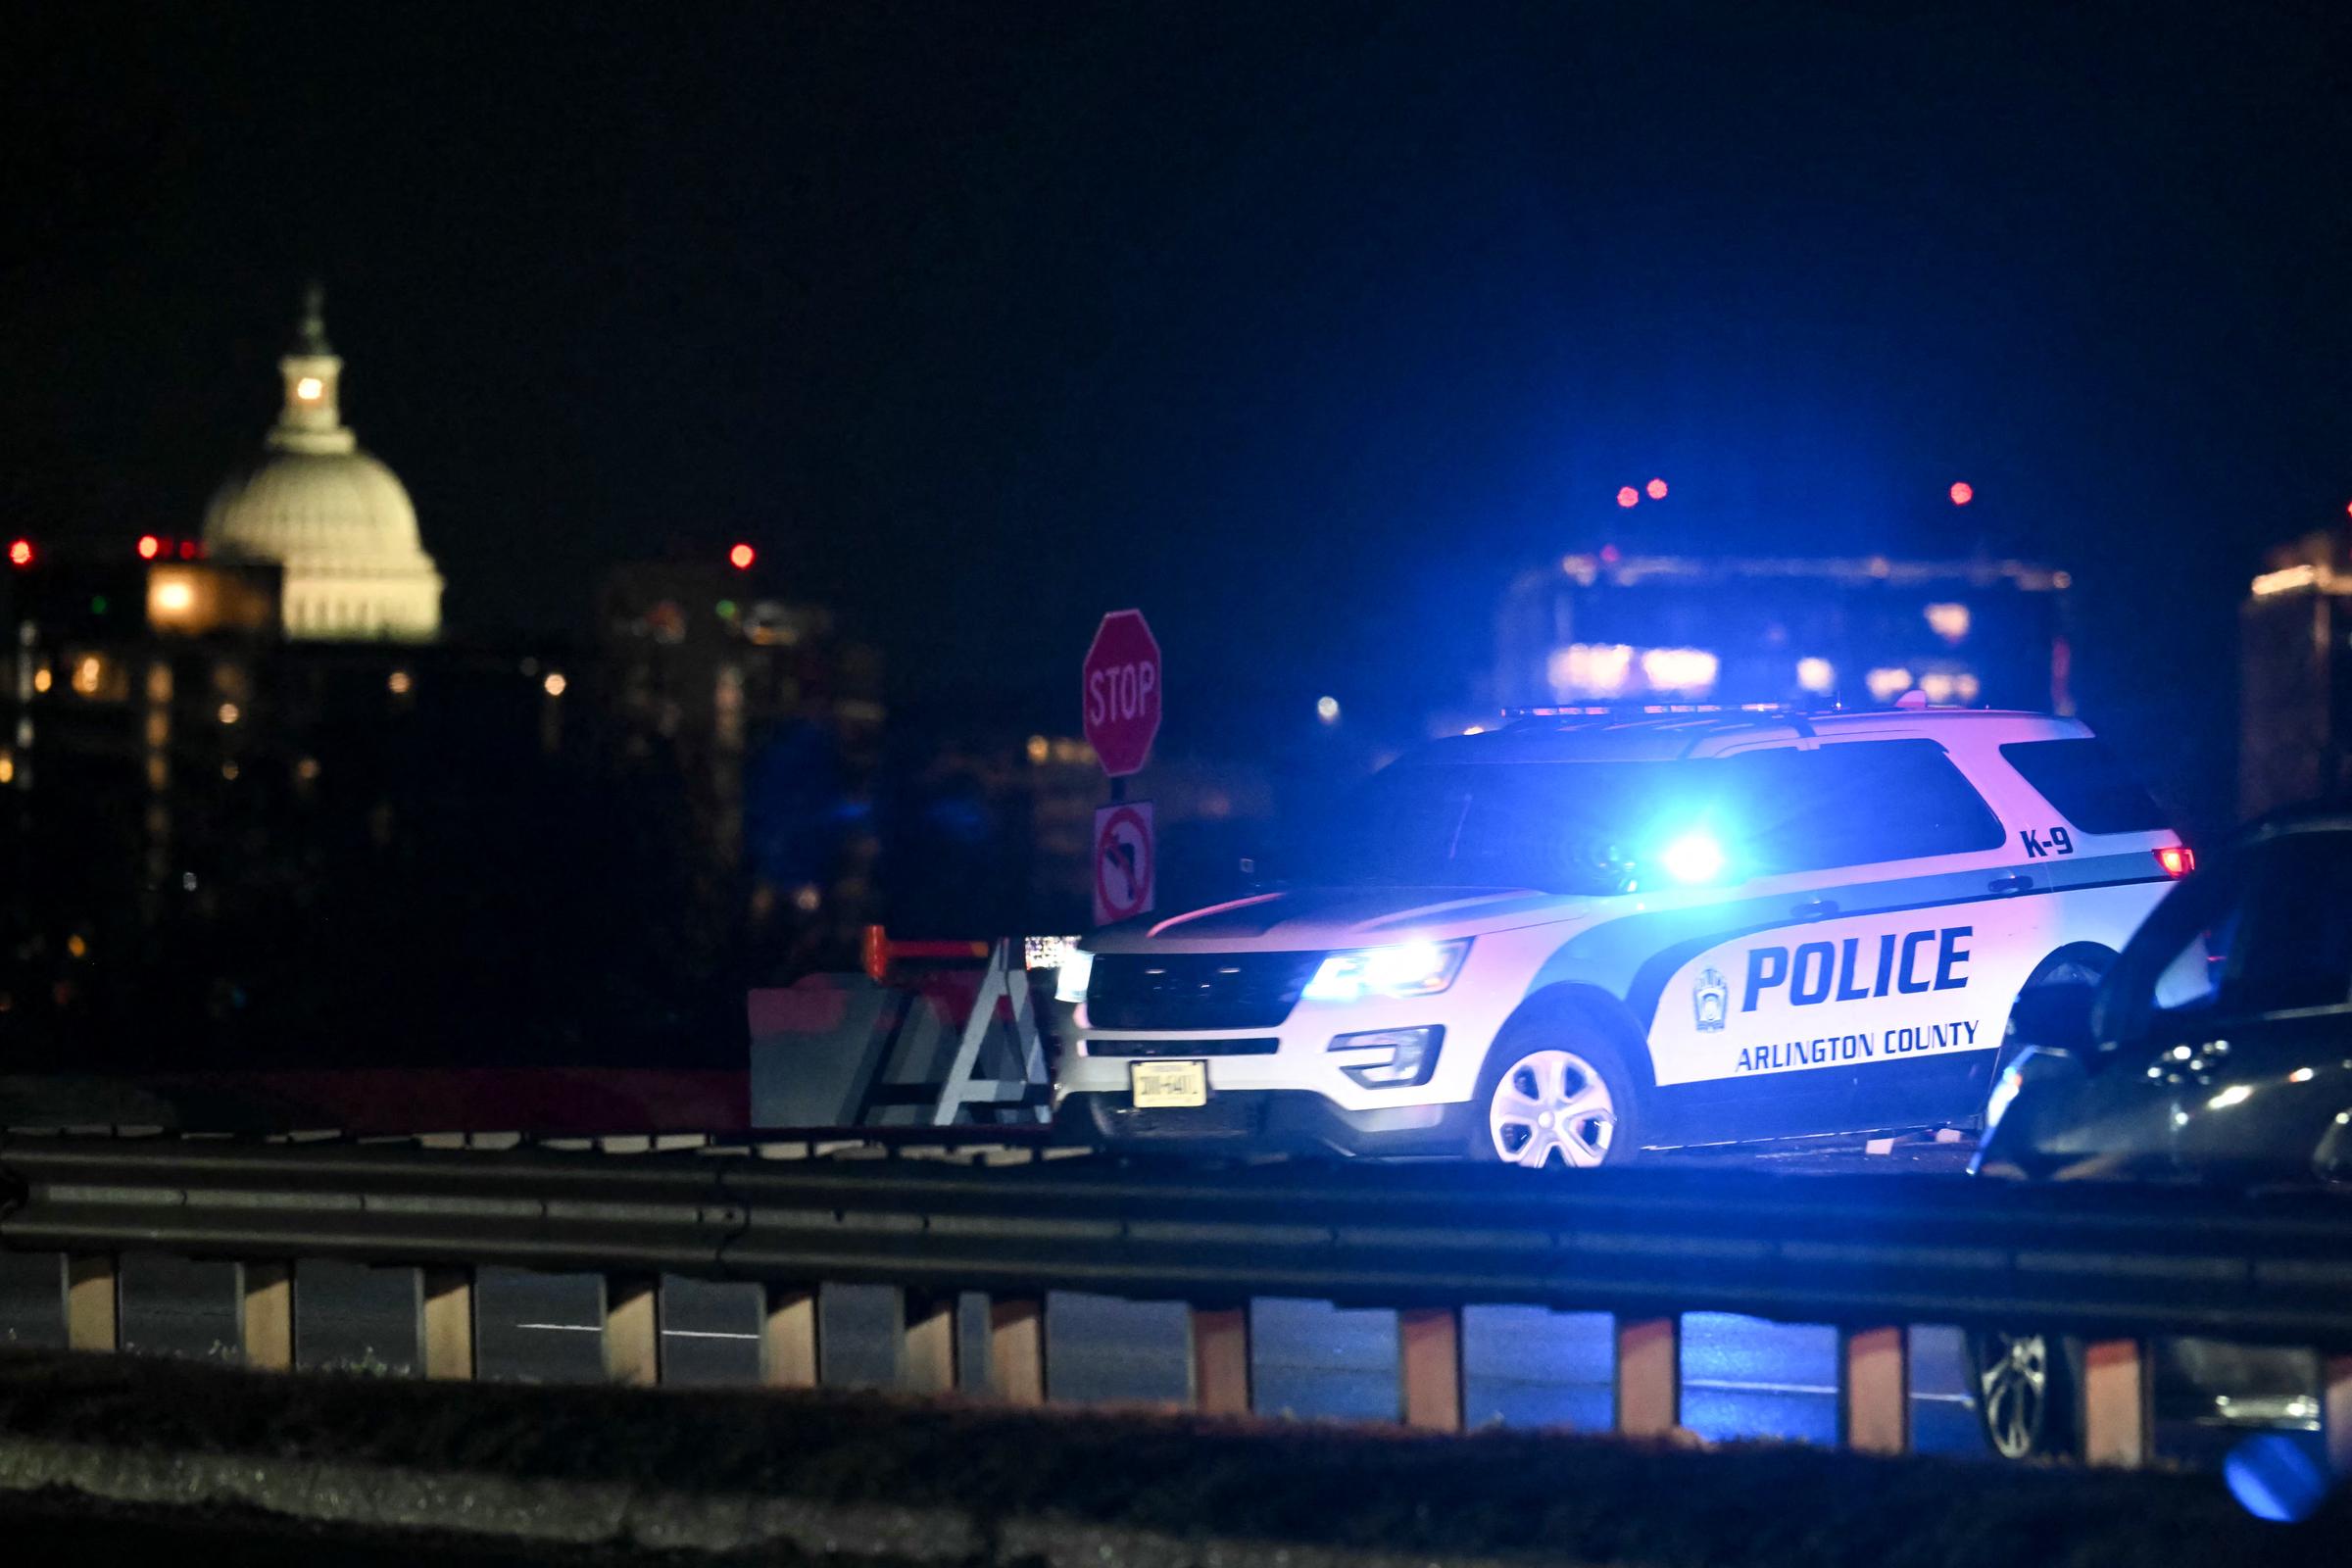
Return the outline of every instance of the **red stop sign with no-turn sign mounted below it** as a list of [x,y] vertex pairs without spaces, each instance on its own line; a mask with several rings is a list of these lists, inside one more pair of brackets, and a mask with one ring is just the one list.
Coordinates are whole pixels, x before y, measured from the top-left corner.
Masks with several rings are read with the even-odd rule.
[[1160,891],[1152,804],[1127,799],[1160,736],[1160,639],[1141,609],[1115,609],[1094,628],[1080,665],[1087,745],[1110,776],[1110,804],[1094,813],[1094,924],[1150,914]]

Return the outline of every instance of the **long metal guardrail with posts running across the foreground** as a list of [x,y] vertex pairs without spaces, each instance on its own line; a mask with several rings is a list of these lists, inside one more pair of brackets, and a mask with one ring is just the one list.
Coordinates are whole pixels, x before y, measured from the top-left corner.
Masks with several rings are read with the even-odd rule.
[[120,1253],[233,1260],[263,1368],[292,1363],[294,1260],[414,1265],[433,1378],[473,1375],[487,1265],[600,1274],[621,1382],[661,1378],[661,1274],[757,1281],[774,1385],[816,1380],[821,1284],[880,1284],[901,1291],[901,1385],[953,1389],[957,1293],[988,1293],[990,1387],[1016,1403],[1044,1399],[1049,1291],[1181,1300],[1209,1413],[1251,1408],[1249,1302],[1322,1298],[1397,1309],[1402,1413],[1430,1429],[1463,1425],[1463,1307],[1616,1314],[1625,1434],[1679,1420],[1682,1314],[1745,1312],[1839,1328],[1839,1434],[1879,1453],[1910,1446],[1910,1324],[2051,1331],[2089,1342],[2086,1453],[2112,1465],[2152,1453],[2150,1340],[2216,1335],[2321,1352],[2328,1450],[2352,1472],[2352,1206],[2328,1194],[767,1154],[0,1138],[0,1246],[64,1255],[87,1349],[115,1345]]

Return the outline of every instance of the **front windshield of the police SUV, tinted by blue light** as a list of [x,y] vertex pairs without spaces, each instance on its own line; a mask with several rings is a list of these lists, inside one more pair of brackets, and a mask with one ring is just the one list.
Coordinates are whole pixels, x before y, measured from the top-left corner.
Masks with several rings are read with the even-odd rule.
[[1308,844],[1338,886],[1621,893],[1632,863],[1710,816],[1715,762],[1475,762],[1374,776]]

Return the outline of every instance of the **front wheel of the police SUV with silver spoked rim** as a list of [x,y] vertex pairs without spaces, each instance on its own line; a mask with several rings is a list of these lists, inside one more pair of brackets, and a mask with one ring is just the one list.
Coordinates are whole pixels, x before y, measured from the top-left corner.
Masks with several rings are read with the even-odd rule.
[[1625,1164],[1639,1150],[1635,1074],[1616,1044],[1573,1016],[1505,1025],[1472,1107],[1475,1161],[1583,1168]]

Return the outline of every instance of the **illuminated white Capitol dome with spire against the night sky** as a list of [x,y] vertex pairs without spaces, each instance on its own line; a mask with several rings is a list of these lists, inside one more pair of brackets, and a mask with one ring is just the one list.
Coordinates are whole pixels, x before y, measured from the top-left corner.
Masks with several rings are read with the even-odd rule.
[[285,411],[259,461],[205,508],[205,552],[280,567],[292,639],[430,642],[442,576],[416,536],[409,491],[343,425],[343,360],[327,346],[318,287],[278,369]]

